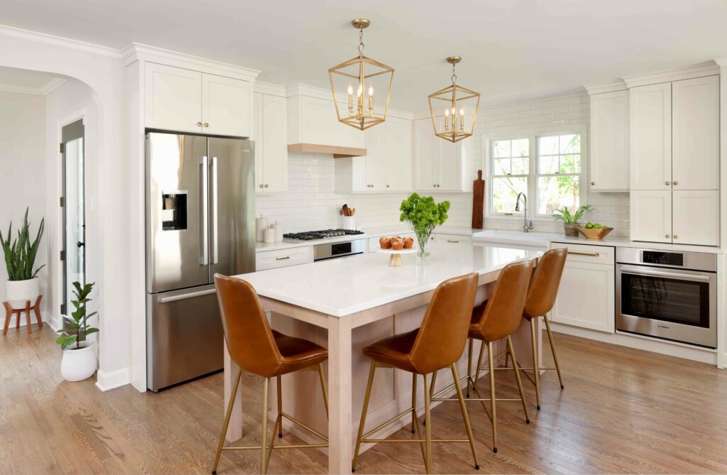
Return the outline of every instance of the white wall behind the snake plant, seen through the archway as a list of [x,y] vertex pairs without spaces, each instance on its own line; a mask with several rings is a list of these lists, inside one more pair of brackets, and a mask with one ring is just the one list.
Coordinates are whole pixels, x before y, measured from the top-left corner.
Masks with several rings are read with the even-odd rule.
[[[12,220],[12,234],[17,236],[25,208],[30,207],[28,221],[33,239],[46,212],[45,97],[0,91],[0,111],[0,230],[7,238],[5,234]],[[47,242],[47,233],[44,233],[35,268],[47,263]],[[44,319],[47,275],[47,268],[41,269],[38,274],[41,295],[44,295],[41,301]],[[5,300],[6,281],[7,268],[3,260],[0,265],[0,301]],[[35,322],[34,317],[32,322]],[[25,325],[25,319],[20,319],[20,324]]]

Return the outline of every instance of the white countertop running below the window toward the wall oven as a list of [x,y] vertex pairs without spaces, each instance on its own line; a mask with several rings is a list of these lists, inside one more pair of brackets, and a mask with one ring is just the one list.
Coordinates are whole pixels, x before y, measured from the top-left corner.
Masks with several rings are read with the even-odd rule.
[[474,233],[472,236],[475,242],[488,242],[497,244],[515,244],[536,247],[547,247],[550,242],[564,242],[568,244],[585,244],[590,246],[613,246],[613,247],[639,247],[642,249],[659,249],[672,251],[709,252],[712,254],[723,254],[725,251],[719,247],[711,246],[690,246],[685,244],[667,244],[659,242],[632,241],[627,237],[606,236],[604,239],[586,239],[585,236],[570,237],[563,233],[539,233],[522,231],[509,231],[499,229],[488,229]]

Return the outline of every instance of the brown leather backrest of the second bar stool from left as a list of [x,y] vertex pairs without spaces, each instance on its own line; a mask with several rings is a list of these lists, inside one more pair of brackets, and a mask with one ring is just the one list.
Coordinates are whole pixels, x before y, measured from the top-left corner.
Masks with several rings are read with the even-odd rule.
[[456,362],[467,343],[479,274],[454,277],[438,285],[409,352],[419,374]]

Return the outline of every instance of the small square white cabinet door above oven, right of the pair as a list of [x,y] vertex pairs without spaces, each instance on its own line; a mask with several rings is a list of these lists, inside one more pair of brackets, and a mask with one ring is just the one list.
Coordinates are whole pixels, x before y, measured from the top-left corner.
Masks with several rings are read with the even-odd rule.
[[672,237],[675,244],[720,244],[720,192],[672,192]]

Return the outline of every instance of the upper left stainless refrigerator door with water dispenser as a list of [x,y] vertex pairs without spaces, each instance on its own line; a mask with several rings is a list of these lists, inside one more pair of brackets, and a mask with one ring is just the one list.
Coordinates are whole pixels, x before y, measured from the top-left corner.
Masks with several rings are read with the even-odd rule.
[[207,284],[207,139],[149,133],[146,159],[147,290]]

